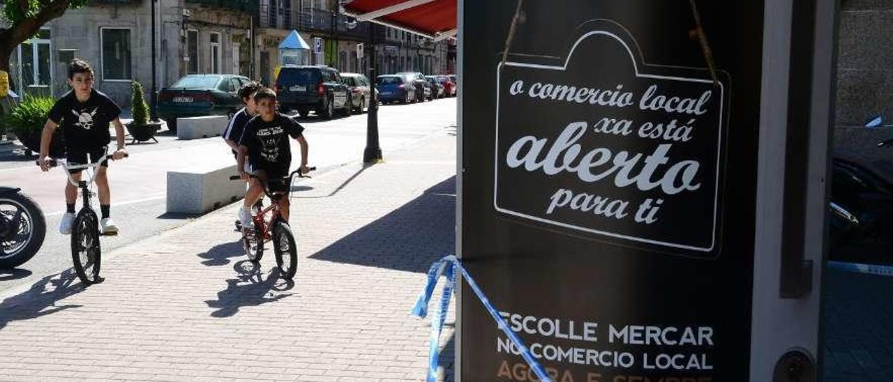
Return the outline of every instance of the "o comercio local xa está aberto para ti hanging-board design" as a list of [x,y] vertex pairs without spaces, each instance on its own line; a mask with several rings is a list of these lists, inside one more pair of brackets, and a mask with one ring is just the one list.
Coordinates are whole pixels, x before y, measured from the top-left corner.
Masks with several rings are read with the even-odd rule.
[[498,65],[497,211],[710,256],[725,73],[647,65],[613,21],[581,28],[556,65]]

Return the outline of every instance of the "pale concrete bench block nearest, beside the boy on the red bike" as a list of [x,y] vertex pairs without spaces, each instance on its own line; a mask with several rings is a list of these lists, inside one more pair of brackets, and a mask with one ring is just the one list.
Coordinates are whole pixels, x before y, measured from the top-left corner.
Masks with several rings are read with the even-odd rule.
[[167,173],[167,212],[204,213],[245,196],[245,182],[230,180],[236,165]]

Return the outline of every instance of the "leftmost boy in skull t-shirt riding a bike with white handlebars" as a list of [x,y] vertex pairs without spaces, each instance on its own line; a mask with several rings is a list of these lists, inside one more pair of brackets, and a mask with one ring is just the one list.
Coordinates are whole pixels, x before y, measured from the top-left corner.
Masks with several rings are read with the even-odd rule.
[[[113,153],[113,159],[118,160],[127,154],[124,150],[124,126],[118,116],[121,108],[104,95],[93,88],[93,68],[85,61],[75,59],[68,66],[68,85],[71,91],[59,98],[50,110],[49,119],[44,124],[44,131],[40,139],[40,164],[41,170],[49,170],[49,161],[46,156],[50,150],[50,142],[53,140],[53,132],[58,126],[62,126],[65,137],[65,157],[70,164],[96,163],[108,151],[108,145],[112,141],[109,134],[109,123],[114,124],[115,136],[118,148]],[[109,217],[110,202],[112,196],[109,192],[106,170],[108,161],[104,161],[96,170],[96,186],[99,189],[99,208],[102,212],[102,220],[99,222],[99,230],[104,235],[118,233],[118,227]],[[81,170],[71,170],[71,178],[80,181]],[[59,232],[63,235],[71,233],[71,223],[74,220],[74,203],[78,200],[78,187],[71,185],[65,179],[65,204],[66,211],[59,223]]]

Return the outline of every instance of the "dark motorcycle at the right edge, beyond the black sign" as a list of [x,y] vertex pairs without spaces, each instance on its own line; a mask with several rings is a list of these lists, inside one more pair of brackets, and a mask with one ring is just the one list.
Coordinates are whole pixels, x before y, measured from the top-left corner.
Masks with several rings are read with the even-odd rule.
[[[893,139],[879,146],[893,146]],[[836,156],[832,163],[830,249],[866,242],[893,245],[893,183],[865,162]]]

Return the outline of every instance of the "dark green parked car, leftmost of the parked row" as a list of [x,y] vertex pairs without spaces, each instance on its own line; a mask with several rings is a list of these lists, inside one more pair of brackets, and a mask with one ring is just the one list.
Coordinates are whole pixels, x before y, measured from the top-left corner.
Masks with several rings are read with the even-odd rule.
[[189,74],[158,93],[158,116],[171,131],[177,131],[178,118],[231,116],[242,107],[238,89],[250,81],[234,74]]

